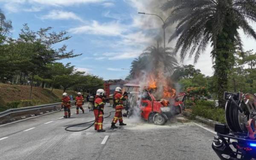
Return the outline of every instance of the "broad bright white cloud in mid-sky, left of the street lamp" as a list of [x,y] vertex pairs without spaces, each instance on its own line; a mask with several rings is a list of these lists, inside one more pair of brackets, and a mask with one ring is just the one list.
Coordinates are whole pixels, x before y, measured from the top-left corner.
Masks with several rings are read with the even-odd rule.
[[122,24],[112,21],[108,23],[100,24],[96,20],[92,23],[76,28],[69,29],[69,32],[74,34],[91,34],[91,35],[106,35],[106,36],[118,36],[126,32],[127,29]]

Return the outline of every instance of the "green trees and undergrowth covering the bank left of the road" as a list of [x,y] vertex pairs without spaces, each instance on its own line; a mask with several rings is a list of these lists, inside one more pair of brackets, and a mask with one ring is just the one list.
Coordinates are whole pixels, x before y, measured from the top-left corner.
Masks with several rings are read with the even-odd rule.
[[[66,31],[52,32],[51,29],[47,27],[33,31],[28,24],[24,24],[18,38],[13,39],[12,21],[7,20],[0,10],[0,82],[9,85],[6,94],[12,93],[8,95],[12,97],[8,102],[8,96],[0,96],[4,107],[15,107],[18,104],[15,99],[21,99],[17,106],[38,105],[57,102],[55,99],[59,99],[67,90],[79,91],[85,95],[103,87],[102,78],[80,72],[70,63],[60,62],[80,56],[81,53],[76,54],[72,49],[67,49],[64,43],[71,37]],[[0,87],[2,86],[1,84]],[[15,88],[26,90],[26,94],[20,93],[20,97]],[[62,91],[57,95],[54,89]],[[38,93],[49,95],[50,100],[42,100],[43,97],[38,96]]]

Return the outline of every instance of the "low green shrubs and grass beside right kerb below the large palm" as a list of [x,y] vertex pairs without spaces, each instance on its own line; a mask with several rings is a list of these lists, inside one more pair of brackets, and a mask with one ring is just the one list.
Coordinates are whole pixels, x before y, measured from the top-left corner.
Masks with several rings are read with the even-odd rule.
[[217,122],[226,123],[225,110],[223,108],[215,107],[214,102],[197,101],[195,102],[195,105],[192,105],[191,102],[188,102],[186,105],[191,106],[188,107],[186,111],[191,112],[195,116],[201,116]]

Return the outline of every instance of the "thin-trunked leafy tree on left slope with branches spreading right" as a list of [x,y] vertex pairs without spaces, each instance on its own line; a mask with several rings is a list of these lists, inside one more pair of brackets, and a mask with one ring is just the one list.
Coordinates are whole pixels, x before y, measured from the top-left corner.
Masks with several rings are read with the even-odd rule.
[[[54,49],[53,44],[68,40],[67,32],[49,33],[51,27],[40,29],[38,32],[32,31],[27,24],[23,25],[20,36],[17,40],[17,51],[27,57],[28,63],[23,66],[23,71],[30,72],[31,91],[29,99],[31,99],[32,86],[35,74],[42,73],[47,70],[47,64],[53,63],[63,58],[73,58],[75,55],[73,50],[66,52],[67,46],[63,45],[59,49]],[[81,55],[81,54],[80,54]]]

